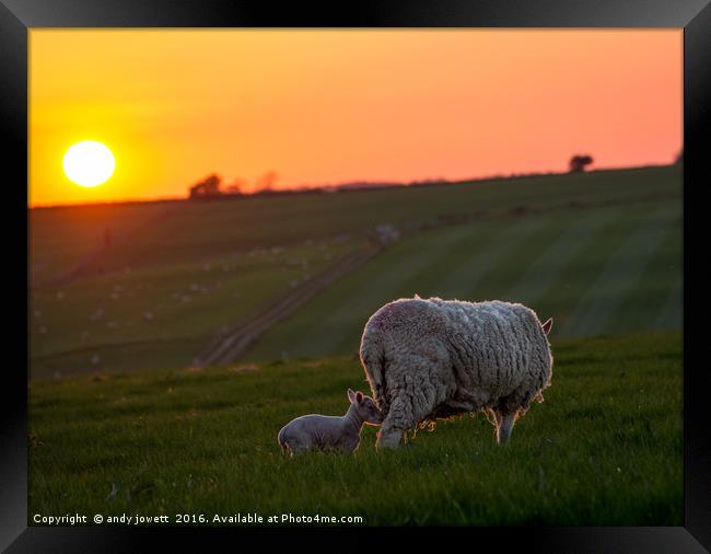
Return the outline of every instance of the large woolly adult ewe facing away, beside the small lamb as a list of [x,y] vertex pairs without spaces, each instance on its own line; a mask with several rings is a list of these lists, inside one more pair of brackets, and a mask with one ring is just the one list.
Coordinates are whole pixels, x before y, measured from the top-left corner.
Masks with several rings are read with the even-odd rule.
[[383,424],[376,446],[395,448],[405,431],[439,418],[483,411],[497,441],[550,386],[552,354],[536,313],[499,300],[416,296],[377,310],[365,324],[360,358]]

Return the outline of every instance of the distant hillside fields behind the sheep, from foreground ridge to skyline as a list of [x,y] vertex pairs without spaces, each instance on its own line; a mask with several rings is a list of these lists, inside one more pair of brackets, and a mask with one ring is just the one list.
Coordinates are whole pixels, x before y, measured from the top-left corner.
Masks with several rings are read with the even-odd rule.
[[[522,301],[552,315],[558,336],[680,328],[679,166],[40,209],[30,229],[31,374],[186,367],[380,223],[403,239],[244,359],[350,354],[375,309],[413,293]],[[114,243],[102,252],[105,229]]]

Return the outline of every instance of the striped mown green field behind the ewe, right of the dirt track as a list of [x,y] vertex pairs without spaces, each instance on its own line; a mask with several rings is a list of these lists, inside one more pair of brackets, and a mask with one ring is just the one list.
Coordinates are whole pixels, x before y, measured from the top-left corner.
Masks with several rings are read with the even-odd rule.
[[522,302],[552,316],[558,336],[678,330],[680,215],[680,203],[665,200],[418,233],[275,325],[245,359],[353,353],[373,312],[416,293]]

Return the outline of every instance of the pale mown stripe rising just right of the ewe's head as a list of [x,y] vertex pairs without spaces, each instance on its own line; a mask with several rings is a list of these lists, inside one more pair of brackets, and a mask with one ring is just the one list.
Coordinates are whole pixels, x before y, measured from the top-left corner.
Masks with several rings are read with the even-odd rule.
[[662,206],[628,235],[578,301],[561,334],[584,336],[609,331],[625,298],[633,293],[654,252],[669,233],[669,208]]

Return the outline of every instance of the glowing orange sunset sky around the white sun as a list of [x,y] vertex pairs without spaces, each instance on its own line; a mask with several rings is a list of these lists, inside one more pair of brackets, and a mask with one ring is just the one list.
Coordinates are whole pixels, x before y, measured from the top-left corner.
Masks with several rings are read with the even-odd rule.
[[[669,163],[681,30],[30,30],[30,205]],[[93,189],[72,143],[116,158]]]

